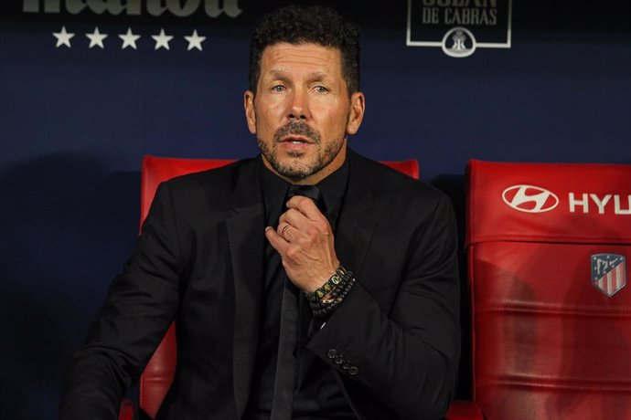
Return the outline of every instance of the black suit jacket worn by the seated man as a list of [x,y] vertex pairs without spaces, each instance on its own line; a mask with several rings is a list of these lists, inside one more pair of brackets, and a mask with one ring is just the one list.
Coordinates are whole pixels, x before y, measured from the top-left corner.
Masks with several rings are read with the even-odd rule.
[[[241,418],[261,316],[260,164],[159,187],[134,257],[70,362],[62,419],[115,419],[172,320],[177,370],[158,418]],[[336,372],[360,417],[439,418],[455,394],[460,350],[451,205],[352,151],[348,165],[335,242],[357,285],[307,348]]]

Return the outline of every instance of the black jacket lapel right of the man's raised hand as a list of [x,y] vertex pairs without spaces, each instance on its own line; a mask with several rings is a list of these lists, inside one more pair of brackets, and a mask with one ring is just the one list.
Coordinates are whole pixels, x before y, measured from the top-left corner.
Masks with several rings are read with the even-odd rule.
[[348,150],[348,187],[336,232],[337,257],[358,278],[375,228],[372,189],[358,155]]

